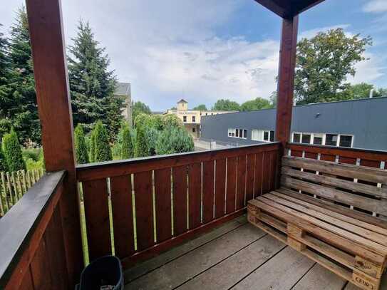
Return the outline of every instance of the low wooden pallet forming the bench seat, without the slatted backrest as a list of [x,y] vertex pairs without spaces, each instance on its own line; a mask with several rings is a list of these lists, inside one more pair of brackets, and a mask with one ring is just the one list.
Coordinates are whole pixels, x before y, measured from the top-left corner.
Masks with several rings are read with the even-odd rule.
[[386,269],[387,230],[308,204],[270,192],[249,201],[248,219],[361,289],[377,290]]

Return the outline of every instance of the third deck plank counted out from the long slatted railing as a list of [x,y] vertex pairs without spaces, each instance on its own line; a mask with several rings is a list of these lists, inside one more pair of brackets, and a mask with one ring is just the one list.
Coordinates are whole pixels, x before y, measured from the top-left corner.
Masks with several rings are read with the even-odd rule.
[[250,244],[220,264],[183,284],[178,290],[229,289],[284,247],[286,246],[282,242],[267,234],[257,242]]

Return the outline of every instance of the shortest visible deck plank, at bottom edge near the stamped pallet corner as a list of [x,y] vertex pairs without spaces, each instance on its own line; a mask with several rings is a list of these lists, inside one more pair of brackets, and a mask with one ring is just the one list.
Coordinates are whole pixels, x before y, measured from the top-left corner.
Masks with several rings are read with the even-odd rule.
[[346,285],[346,280],[341,279],[319,264],[313,268],[294,286],[293,290],[341,290]]

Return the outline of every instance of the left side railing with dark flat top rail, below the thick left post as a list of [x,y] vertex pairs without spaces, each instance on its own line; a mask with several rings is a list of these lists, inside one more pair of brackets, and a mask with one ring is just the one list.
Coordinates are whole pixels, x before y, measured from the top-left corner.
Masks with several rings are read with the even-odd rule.
[[69,288],[59,207],[65,175],[41,177],[0,219],[0,289]]

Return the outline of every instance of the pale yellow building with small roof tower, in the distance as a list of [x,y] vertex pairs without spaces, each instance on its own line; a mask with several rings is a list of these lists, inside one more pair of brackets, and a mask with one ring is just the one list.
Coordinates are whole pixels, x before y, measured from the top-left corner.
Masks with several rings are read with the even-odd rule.
[[218,115],[234,113],[234,111],[223,111],[223,110],[189,110],[188,102],[184,99],[181,99],[177,102],[176,110],[167,110],[165,114],[177,115],[182,123],[184,123],[185,129],[188,133],[192,135],[193,138],[200,138],[200,121],[202,116],[207,115]]

